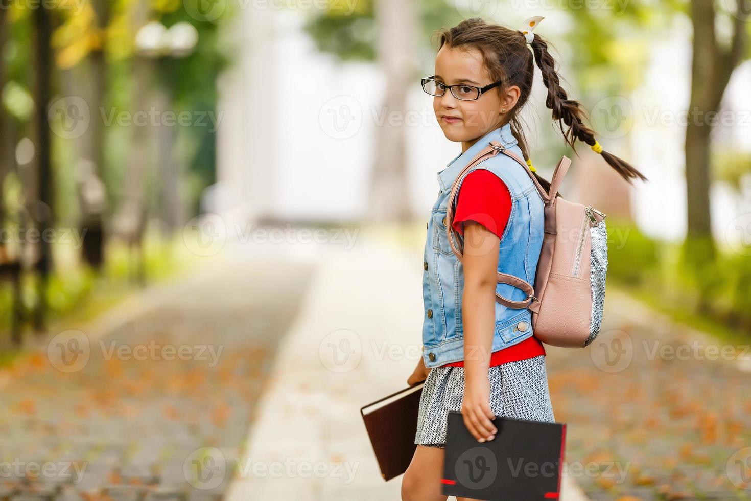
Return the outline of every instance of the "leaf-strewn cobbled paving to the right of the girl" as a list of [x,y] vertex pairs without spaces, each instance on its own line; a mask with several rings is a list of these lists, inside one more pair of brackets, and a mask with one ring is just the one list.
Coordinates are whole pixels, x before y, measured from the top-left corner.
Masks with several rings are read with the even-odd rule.
[[605,305],[590,348],[547,349],[578,484],[593,501],[751,499],[749,344],[712,340],[611,289]]

